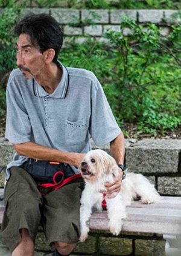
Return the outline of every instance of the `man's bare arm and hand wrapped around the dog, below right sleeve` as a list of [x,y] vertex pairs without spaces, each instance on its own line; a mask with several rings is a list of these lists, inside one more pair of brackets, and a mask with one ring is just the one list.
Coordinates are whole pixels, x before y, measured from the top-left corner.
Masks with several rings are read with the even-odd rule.
[[[120,133],[115,140],[110,142],[110,152],[112,157],[115,158],[117,164],[124,163],[125,155],[125,141],[123,133]],[[118,177],[115,177],[114,183],[106,183],[105,187],[107,189],[107,198],[115,197],[118,192],[121,190],[122,182],[122,170],[120,169],[120,174]]]

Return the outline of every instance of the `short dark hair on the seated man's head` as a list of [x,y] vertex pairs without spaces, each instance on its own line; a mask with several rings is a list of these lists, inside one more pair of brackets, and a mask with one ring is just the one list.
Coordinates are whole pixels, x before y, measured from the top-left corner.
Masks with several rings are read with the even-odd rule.
[[26,15],[14,27],[14,34],[19,36],[27,34],[30,36],[31,44],[39,47],[40,52],[54,49],[56,55],[53,62],[57,62],[60,49],[63,44],[63,32],[56,19],[50,15],[33,13]]

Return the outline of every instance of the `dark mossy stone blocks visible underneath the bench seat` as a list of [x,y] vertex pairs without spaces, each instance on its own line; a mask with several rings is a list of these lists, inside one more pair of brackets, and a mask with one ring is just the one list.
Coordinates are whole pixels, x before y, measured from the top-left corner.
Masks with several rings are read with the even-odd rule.
[[[51,255],[43,232],[37,235],[35,250],[37,256]],[[71,255],[165,256],[165,241],[155,234],[122,232],[113,237],[108,232],[90,232],[89,238],[78,243]]]

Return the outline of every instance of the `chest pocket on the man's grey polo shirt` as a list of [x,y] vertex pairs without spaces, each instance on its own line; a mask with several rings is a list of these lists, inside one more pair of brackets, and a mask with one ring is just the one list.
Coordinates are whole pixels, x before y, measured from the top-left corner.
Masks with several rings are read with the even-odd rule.
[[82,119],[76,122],[66,120],[65,137],[69,146],[75,146],[72,150],[75,150],[79,143],[86,141],[87,135],[88,125],[86,120]]

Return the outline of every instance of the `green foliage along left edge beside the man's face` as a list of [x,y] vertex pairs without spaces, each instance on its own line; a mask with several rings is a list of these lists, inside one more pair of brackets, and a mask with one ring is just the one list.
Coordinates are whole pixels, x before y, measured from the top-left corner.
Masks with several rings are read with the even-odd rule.
[[16,24],[25,4],[14,0],[1,0],[1,6],[5,8],[1,12],[0,19],[0,119],[5,117],[5,87],[10,71],[16,66],[15,38],[11,29]]

